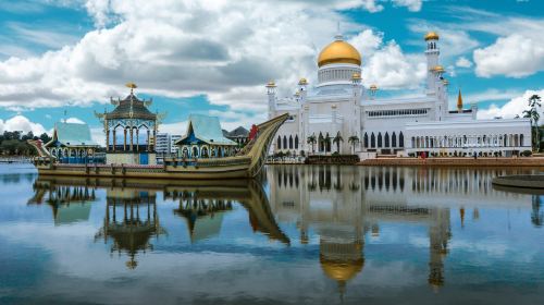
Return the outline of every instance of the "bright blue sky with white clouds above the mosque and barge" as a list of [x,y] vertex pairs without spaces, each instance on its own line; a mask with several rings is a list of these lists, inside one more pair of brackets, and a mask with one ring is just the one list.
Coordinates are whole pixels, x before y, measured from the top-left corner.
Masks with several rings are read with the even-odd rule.
[[0,132],[50,132],[112,110],[127,82],[183,134],[190,113],[226,130],[267,118],[264,84],[292,95],[317,81],[341,32],[379,97],[422,95],[428,30],[438,33],[449,103],[514,118],[544,95],[544,1],[537,0],[0,0]]

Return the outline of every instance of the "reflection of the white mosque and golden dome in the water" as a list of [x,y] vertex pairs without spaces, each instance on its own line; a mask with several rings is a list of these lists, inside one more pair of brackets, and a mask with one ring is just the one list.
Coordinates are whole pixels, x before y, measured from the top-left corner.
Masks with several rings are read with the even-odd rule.
[[[380,235],[380,223],[416,223],[428,227],[428,283],[445,284],[444,261],[453,236],[452,207],[472,220],[480,219],[479,206],[509,206],[522,196],[496,191],[492,178],[517,170],[446,168],[356,168],[289,167],[269,168],[271,207],[280,221],[299,225],[300,243],[308,231],[319,234],[323,272],[345,284],[364,266],[364,235]],[[299,183],[299,178],[306,183]],[[542,224],[541,197],[533,196],[532,222]],[[541,224],[539,224],[541,223]]]

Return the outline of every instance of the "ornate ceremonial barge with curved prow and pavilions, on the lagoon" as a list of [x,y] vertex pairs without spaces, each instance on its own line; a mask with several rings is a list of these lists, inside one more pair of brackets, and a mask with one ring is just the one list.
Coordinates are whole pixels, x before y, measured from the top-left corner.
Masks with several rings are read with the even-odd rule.
[[[131,88],[131,94],[123,100],[112,101],[115,106],[113,111],[97,113],[104,125],[106,164],[97,162],[95,159],[89,161],[89,158],[86,158],[86,156],[94,156],[95,149],[98,148],[98,145],[90,141],[88,126],[76,126],[76,130],[86,130],[86,132],[79,133],[86,135],[85,143],[83,143],[76,138],[76,133],[69,132],[72,129],[64,126],[66,125],[64,123],[55,125],[55,136],[51,143],[41,145],[39,141],[28,141],[36,147],[39,155],[33,159],[38,173],[123,179],[254,178],[265,162],[269,147],[276,131],[288,119],[288,114],[282,114],[257,125],[256,135],[239,151],[231,149],[231,141],[226,138],[224,142],[228,143],[209,139],[210,143],[202,144],[202,147],[195,146],[194,141],[185,143],[186,137],[198,135],[195,126],[189,124],[188,136],[176,143],[181,146],[182,154],[165,157],[162,164],[157,164],[153,139],[157,135],[158,124],[164,114],[149,111],[147,106],[151,101],[143,101],[134,95],[135,84],[129,83],[127,86]],[[220,138],[223,138],[219,121],[217,125]],[[57,131],[58,129],[59,131]],[[139,131],[141,129],[147,130],[144,141],[140,141]],[[123,131],[121,143],[118,141],[118,130]],[[210,132],[200,133],[205,137],[206,135],[213,137],[213,134]],[[214,139],[220,138],[214,137]],[[234,142],[232,144],[235,145]]]

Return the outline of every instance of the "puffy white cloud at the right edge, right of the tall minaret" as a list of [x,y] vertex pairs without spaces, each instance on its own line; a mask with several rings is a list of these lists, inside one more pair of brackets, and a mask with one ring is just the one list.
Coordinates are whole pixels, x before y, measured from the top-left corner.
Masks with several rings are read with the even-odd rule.
[[512,34],[474,50],[473,57],[479,76],[523,77],[544,70],[544,40],[540,33],[537,37]]

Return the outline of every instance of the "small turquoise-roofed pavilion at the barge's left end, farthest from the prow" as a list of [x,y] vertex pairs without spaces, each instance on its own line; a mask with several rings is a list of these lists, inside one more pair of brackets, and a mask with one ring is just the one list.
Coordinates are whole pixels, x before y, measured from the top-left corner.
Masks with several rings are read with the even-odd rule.
[[99,147],[90,137],[87,124],[59,122],[45,148],[62,163],[86,163]]

